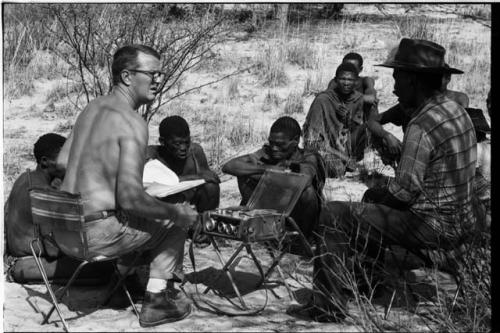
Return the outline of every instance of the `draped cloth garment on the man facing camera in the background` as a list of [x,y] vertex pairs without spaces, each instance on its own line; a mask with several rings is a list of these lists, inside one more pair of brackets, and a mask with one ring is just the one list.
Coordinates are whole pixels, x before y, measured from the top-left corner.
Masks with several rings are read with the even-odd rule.
[[[340,113],[341,105],[348,114]],[[369,108],[358,91],[341,98],[335,90],[326,90],[312,102],[303,126],[304,147],[321,154],[329,177],[342,176],[351,159],[363,158],[368,143],[365,113]]]

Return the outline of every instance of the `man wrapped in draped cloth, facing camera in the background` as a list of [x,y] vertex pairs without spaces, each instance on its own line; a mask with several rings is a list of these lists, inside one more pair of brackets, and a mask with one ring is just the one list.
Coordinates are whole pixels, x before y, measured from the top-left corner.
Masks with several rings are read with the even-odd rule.
[[341,177],[354,171],[355,162],[364,157],[367,146],[366,120],[377,113],[376,105],[368,105],[354,89],[358,69],[350,62],[342,63],[335,72],[336,86],[319,93],[309,108],[303,127],[304,147],[317,150],[325,160],[328,177]]

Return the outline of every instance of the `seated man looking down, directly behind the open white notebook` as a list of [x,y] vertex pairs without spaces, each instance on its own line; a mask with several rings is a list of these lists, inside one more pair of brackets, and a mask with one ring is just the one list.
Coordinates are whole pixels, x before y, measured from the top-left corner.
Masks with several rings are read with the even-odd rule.
[[146,159],[157,159],[175,172],[179,181],[204,179],[205,184],[162,199],[166,202],[189,202],[198,212],[219,205],[219,177],[210,170],[203,148],[191,142],[189,125],[180,116],[166,117],[160,123],[160,145],[149,146]]

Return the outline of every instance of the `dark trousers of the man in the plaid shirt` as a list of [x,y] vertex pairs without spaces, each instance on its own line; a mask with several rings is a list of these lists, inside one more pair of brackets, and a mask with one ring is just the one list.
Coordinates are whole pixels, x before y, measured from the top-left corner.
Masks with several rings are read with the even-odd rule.
[[354,254],[362,254],[361,266],[368,268],[364,276],[369,277],[383,264],[386,245],[397,244],[413,253],[451,246],[412,212],[382,204],[328,202],[321,210],[318,229],[314,303],[328,311],[347,310],[345,289],[351,285],[343,272],[352,272],[348,258]]

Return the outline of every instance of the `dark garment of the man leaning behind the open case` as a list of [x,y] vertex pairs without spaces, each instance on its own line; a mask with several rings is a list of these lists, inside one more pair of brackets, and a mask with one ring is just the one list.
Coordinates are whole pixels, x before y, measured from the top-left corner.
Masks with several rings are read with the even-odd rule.
[[[267,146],[251,153],[251,159],[259,164],[271,164]],[[319,154],[297,149],[292,156],[278,163],[278,166],[291,167],[293,171],[311,176],[312,182],[307,185],[299,200],[295,204],[290,216],[295,220],[306,237],[312,234],[319,217],[322,201],[322,191],[325,184],[325,168]],[[240,205],[246,205],[260,178],[242,176],[238,177],[238,188],[241,194]]]

